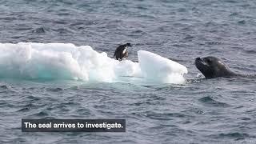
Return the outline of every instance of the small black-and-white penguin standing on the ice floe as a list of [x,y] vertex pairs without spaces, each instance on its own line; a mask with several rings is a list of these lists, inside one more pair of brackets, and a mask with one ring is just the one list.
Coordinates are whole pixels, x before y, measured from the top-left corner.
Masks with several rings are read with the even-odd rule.
[[115,58],[119,61],[122,61],[122,58],[128,58],[128,47],[131,47],[130,43],[118,46],[118,48],[114,51]]

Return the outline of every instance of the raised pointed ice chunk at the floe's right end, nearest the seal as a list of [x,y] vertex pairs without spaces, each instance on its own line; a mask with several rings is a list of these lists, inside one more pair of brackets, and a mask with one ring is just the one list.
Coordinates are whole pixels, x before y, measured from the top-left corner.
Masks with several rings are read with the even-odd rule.
[[143,77],[153,82],[183,83],[186,66],[145,50],[138,51],[138,63]]

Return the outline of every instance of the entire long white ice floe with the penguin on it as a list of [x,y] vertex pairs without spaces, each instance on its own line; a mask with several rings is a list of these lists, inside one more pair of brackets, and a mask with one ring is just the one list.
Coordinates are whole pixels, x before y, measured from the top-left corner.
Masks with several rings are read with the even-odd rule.
[[[138,62],[118,61],[90,46],[70,43],[0,43],[0,77],[122,82],[183,83],[185,66],[145,50]],[[132,82],[132,81],[130,81]]]

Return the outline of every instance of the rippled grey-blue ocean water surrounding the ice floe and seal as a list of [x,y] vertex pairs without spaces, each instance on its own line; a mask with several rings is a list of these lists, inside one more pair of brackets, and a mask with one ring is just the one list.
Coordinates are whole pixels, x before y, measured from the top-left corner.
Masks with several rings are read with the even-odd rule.
[[[109,55],[135,44],[198,79],[213,55],[256,73],[254,0],[1,0],[0,42],[70,42]],[[256,78],[185,85],[0,79],[0,143],[256,143]],[[126,133],[22,133],[22,118],[126,118]]]

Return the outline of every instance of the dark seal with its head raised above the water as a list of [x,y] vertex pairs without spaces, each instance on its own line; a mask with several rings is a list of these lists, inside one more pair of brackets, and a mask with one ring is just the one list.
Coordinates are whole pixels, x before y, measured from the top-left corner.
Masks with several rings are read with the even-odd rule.
[[235,74],[224,62],[212,56],[196,58],[194,64],[206,78],[231,78],[242,75]]

